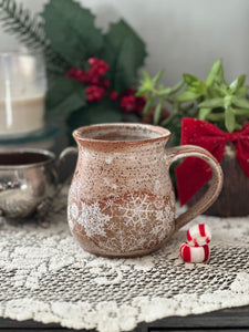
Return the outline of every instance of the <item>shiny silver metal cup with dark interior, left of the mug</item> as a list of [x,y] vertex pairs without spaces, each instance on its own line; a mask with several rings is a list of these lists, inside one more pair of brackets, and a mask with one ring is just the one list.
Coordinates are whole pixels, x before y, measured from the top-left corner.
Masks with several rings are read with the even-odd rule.
[[0,216],[43,217],[61,185],[60,167],[74,149],[65,148],[56,159],[52,152],[25,148],[0,152]]

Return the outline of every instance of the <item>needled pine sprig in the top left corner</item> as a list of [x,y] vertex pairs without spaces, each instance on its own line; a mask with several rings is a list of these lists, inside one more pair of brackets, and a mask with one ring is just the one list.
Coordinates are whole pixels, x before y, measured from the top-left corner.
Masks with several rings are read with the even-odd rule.
[[61,73],[68,68],[66,62],[54,52],[45,38],[43,21],[32,15],[14,0],[0,0],[0,18],[6,32],[15,34],[29,49],[41,50],[46,60],[46,68],[52,73]]

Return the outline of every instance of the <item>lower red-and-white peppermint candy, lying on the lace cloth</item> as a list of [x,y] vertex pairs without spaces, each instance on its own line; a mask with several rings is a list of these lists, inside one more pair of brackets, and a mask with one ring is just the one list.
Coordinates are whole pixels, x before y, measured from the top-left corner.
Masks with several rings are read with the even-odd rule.
[[186,262],[205,262],[209,258],[208,245],[201,247],[191,247],[184,242],[179,249],[180,257]]

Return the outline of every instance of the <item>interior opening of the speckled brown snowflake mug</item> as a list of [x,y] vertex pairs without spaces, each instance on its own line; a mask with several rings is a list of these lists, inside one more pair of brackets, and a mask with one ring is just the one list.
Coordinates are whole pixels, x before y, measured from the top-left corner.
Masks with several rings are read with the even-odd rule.
[[169,131],[163,127],[143,124],[106,124],[81,127],[77,137],[107,142],[149,141],[167,137]]

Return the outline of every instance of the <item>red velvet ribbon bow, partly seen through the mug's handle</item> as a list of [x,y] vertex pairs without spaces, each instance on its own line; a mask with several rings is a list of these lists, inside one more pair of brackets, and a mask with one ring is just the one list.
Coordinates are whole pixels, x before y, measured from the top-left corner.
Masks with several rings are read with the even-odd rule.
[[[231,142],[236,157],[249,177],[249,124],[240,132],[227,133],[217,126],[197,118],[183,118],[181,144],[194,144],[209,151],[221,163],[226,144]],[[180,204],[186,204],[210,178],[211,168],[204,160],[186,158],[175,169]]]

